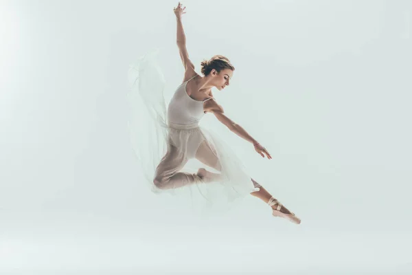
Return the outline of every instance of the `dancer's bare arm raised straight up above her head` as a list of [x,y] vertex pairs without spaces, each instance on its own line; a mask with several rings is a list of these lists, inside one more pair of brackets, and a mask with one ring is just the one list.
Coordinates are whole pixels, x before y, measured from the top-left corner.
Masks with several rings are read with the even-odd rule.
[[177,23],[176,43],[177,47],[179,47],[179,54],[181,56],[183,67],[185,67],[185,71],[189,74],[192,74],[192,71],[194,72],[194,65],[192,61],[190,61],[189,54],[187,53],[186,36],[182,23],[182,14],[186,13],[185,8],[186,7],[182,8],[181,3],[179,2],[179,5],[177,5],[177,7],[173,9],[174,14],[176,15]]

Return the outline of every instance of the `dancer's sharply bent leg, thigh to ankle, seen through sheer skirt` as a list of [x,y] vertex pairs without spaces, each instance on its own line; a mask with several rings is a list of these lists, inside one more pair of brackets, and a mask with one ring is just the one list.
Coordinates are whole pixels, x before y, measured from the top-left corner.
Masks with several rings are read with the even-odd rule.
[[187,158],[179,151],[176,146],[168,144],[168,151],[161,159],[156,168],[153,183],[160,189],[172,189],[200,182],[201,178],[196,174],[181,173],[187,163]]

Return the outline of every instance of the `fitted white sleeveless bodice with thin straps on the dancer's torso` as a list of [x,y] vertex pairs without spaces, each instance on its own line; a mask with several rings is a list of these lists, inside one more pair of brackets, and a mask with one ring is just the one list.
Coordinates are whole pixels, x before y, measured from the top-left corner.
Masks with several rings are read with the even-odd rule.
[[203,113],[203,102],[210,98],[203,101],[191,98],[186,92],[186,85],[190,80],[179,85],[170,100],[168,106],[168,122],[170,123],[196,125],[205,115]]

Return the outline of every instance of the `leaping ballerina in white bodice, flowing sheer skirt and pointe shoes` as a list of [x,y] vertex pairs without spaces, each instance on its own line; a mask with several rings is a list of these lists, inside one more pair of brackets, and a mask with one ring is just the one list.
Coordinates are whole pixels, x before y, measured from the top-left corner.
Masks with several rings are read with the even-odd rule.
[[[177,21],[176,43],[185,67],[185,76],[183,83],[174,92],[167,111],[163,99],[163,75],[155,61],[155,54],[146,54],[129,70],[132,87],[130,96],[138,94],[135,100],[143,99],[146,107],[143,109],[147,109],[155,121],[148,124],[150,129],[145,131],[141,126],[130,123],[132,132],[135,130],[135,135],[132,133],[133,146],[152,190],[174,193],[196,186],[195,189],[210,203],[219,199],[230,202],[251,194],[271,206],[273,216],[299,224],[301,221],[294,213],[250,177],[240,159],[218,135],[199,125],[205,113],[212,113],[233,133],[251,142],[251,146],[262,157],[266,155],[268,159],[272,158],[262,144],[225,115],[211,92],[213,87],[221,91],[230,84],[235,69],[233,65],[225,56],[213,56],[201,63],[203,76],[198,75],[187,54],[181,21],[185,8],[180,2],[174,8],[174,14]],[[137,116],[135,122],[141,122],[139,118]],[[137,142],[144,137],[147,137],[147,142]],[[191,159],[203,165],[192,166],[198,168],[196,173],[183,169]],[[211,172],[210,168],[216,173]]]

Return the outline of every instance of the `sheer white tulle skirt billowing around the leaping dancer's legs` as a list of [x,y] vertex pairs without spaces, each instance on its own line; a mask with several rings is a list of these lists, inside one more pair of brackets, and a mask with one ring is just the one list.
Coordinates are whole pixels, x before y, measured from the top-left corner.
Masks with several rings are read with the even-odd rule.
[[[157,194],[189,195],[192,206],[229,209],[260,185],[214,131],[168,122],[158,54],[149,52],[128,71],[128,129],[139,173]],[[214,174],[201,177],[199,168]]]

